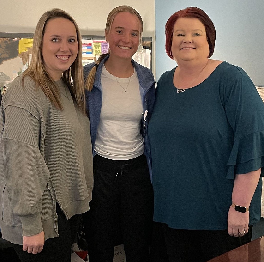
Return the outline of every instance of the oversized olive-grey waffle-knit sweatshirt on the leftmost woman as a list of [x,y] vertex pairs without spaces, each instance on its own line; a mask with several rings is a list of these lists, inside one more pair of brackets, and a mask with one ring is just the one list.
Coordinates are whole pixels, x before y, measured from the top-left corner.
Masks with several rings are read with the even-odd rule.
[[63,110],[35,82],[18,76],[8,87],[0,115],[0,228],[4,239],[44,230],[58,237],[56,202],[67,219],[89,210],[93,164],[90,123],[68,87],[56,81]]

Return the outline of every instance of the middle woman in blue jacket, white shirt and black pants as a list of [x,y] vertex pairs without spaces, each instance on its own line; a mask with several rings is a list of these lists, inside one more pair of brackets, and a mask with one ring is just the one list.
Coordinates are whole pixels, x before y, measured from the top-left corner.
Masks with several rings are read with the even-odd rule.
[[134,8],[114,8],[105,29],[110,52],[84,67],[94,156],[93,197],[83,215],[91,262],[113,261],[117,231],[127,261],[148,260],[153,189],[147,128],[155,82],[131,59],[142,31]]

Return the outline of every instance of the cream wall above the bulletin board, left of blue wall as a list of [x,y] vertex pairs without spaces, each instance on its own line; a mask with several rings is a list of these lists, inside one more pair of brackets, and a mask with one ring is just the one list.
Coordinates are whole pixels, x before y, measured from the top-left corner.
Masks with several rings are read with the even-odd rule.
[[[104,35],[109,12],[126,4],[135,8],[144,24],[143,36],[152,43],[152,68],[155,70],[155,1],[154,0],[0,0],[0,32],[34,33],[40,16],[51,8],[61,8],[72,15],[84,35]],[[155,75],[155,72],[154,72]]]

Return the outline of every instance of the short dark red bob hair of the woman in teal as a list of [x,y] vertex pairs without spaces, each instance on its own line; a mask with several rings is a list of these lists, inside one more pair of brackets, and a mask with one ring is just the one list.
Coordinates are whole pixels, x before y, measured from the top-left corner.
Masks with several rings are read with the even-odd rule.
[[209,16],[198,7],[187,7],[174,13],[165,25],[166,34],[166,53],[171,59],[173,58],[171,52],[172,36],[174,25],[178,18],[198,18],[205,27],[206,39],[209,45],[209,57],[214,53],[215,46],[215,27]]

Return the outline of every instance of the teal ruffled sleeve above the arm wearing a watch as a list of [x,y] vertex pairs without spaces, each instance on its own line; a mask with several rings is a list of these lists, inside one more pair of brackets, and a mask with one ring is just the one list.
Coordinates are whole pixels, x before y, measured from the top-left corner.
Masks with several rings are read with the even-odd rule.
[[228,87],[227,81],[223,93],[234,142],[226,178],[234,179],[235,174],[246,174],[264,166],[264,103],[243,69],[234,66],[230,74],[231,85],[229,82]]

